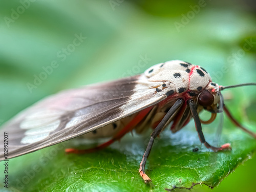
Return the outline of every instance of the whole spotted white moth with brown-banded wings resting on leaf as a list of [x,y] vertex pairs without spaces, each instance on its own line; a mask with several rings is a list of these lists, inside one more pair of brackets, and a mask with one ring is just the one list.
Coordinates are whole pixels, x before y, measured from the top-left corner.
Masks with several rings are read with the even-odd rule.
[[[144,170],[146,159],[154,139],[171,122],[170,130],[175,133],[194,118],[201,143],[214,152],[231,150],[229,143],[217,147],[204,138],[201,123],[214,121],[217,113],[226,112],[234,124],[256,138],[255,133],[232,117],[221,94],[228,88],[249,85],[255,86],[256,83],[219,86],[211,81],[204,68],[182,60],[171,60],[154,65],[140,75],[62,91],[35,103],[3,126],[1,135],[8,134],[9,145],[8,153],[0,151],[0,160],[75,137],[110,138],[89,150],[66,150],[67,153],[96,151],[132,130],[143,133],[152,128],[139,168],[140,176],[149,182],[151,179]],[[211,113],[208,121],[200,120],[198,113],[202,110]]]

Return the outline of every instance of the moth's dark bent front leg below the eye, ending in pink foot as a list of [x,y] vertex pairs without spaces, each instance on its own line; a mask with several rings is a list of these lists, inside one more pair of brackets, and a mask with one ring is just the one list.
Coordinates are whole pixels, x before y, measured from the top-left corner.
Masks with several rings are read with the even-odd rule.
[[195,125],[196,125],[196,129],[197,129],[197,133],[198,133],[198,136],[199,136],[199,139],[200,139],[201,143],[203,143],[207,148],[210,148],[214,152],[218,152],[218,151],[222,151],[222,150],[231,150],[231,146],[230,146],[229,143],[226,143],[226,144],[222,145],[221,147],[215,147],[215,146],[211,146],[209,143],[207,143],[205,141],[204,134],[202,132],[202,125],[201,125],[201,122],[200,122],[200,119],[199,119],[199,116],[198,116],[197,109],[195,107],[194,101],[193,100],[189,100],[188,104],[189,104],[192,116],[193,116],[193,118],[195,120]]

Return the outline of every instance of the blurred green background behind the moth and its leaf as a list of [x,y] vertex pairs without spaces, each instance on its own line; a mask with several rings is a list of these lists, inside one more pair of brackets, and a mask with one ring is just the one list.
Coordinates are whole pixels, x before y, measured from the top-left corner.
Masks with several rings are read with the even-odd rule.
[[[0,123],[60,90],[139,74],[172,59],[203,66],[223,86],[256,82],[255,13],[250,0],[2,1]],[[253,87],[225,92],[233,114],[251,127],[255,95]],[[214,191],[253,191],[256,159],[245,165]],[[51,191],[49,181],[39,183],[34,190]]]

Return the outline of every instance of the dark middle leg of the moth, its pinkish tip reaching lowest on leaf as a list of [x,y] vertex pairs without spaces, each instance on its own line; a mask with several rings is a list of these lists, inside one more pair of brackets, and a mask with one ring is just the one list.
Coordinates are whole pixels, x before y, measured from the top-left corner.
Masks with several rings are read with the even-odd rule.
[[148,155],[150,155],[150,151],[154,142],[154,139],[160,134],[160,132],[162,131],[164,125],[167,123],[168,119],[170,117],[172,117],[172,115],[179,110],[180,106],[184,103],[183,99],[178,99],[174,105],[172,106],[172,108],[169,109],[169,111],[166,113],[166,115],[164,116],[164,118],[161,120],[161,122],[157,125],[156,129],[154,130],[154,132],[151,134],[151,138],[150,141],[147,144],[146,147],[146,151],[142,157],[141,163],[140,163],[140,169],[139,169],[139,173],[140,176],[143,178],[143,180],[145,181],[145,183],[151,181],[151,179],[145,174],[145,164],[146,164],[146,159],[148,157]]

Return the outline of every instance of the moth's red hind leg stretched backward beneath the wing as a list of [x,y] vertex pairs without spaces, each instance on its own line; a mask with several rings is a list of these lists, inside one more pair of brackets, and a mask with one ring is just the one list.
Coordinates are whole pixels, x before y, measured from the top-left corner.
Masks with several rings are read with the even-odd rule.
[[150,106],[149,108],[146,108],[138,113],[132,121],[130,121],[127,125],[123,127],[123,129],[118,132],[111,140],[102,143],[96,147],[88,148],[87,150],[76,150],[75,148],[66,148],[66,153],[76,153],[76,154],[83,154],[83,153],[92,153],[98,150],[101,150],[102,148],[105,148],[115,142],[116,140],[121,139],[126,133],[132,131],[134,127],[143,120],[143,118],[152,110],[153,106]]

